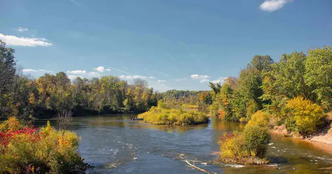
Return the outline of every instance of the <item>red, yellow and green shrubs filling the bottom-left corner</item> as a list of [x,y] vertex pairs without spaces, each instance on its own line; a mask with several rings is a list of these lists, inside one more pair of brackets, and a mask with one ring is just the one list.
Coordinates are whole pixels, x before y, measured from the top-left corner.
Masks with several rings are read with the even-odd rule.
[[76,151],[80,139],[73,132],[62,136],[50,122],[40,129],[23,126],[15,117],[1,128],[1,173],[83,173],[89,167]]

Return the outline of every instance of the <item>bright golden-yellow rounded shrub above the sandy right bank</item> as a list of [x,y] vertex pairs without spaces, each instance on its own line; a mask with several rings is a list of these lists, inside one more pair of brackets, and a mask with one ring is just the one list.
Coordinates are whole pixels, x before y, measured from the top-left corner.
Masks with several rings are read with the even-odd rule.
[[291,111],[294,117],[296,128],[302,135],[312,134],[317,131],[317,127],[321,125],[325,119],[323,109],[305,100],[303,97],[296,97],[288,101],[286,107]]

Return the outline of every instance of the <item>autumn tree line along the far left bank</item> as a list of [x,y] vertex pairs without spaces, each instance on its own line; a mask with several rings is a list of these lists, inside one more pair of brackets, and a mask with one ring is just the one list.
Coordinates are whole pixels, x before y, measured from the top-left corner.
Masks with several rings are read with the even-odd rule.
[[74,115],[143,112],[157,106],[161,97],[140,79],[129,84],[114,76],[77,77],[71,82],[64,72],[34,79],[22,73],[14,53],[0,41],[0,119],[53,116],[63,110]]

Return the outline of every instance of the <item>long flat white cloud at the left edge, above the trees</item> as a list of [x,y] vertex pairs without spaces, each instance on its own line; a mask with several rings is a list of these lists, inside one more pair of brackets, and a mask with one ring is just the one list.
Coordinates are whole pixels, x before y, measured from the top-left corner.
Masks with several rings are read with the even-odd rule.
[[7,43],[7,45],[15,46],[51,46],[52,43],[45,42],[45,38],[28,38],[16,37],[10,35],[3,35],[0,33],[0,39]]

